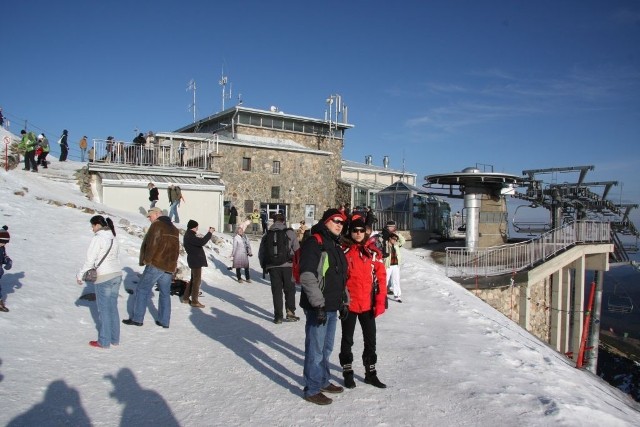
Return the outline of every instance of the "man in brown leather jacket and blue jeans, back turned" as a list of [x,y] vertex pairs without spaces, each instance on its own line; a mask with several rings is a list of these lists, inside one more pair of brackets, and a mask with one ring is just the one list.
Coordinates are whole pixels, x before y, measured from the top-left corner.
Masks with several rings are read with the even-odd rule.
[[158,284],[158,319],[156,325],[169,327],[171,320],[171,279],[178,266],[180,233],[162,209],[151,208],[147,212],[151,221],[149,231],[140,247],[140,265],[144,265],[142,278],[135,292],[133,316],[122,321],[125,325],[142,326],[153,285]]

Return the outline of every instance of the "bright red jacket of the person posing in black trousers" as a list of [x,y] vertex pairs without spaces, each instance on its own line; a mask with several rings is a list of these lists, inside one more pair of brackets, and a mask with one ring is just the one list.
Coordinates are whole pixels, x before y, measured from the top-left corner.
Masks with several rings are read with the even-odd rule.
[[[387,273],[384,263],[375,251],[361,244],[351,242],[343,248],[348,266],[349,311],[364,313],[373,308],[375,316],[378,317],[384,313],[387,299]],[[378,281],[378,292],[375,295],[374,275]]]

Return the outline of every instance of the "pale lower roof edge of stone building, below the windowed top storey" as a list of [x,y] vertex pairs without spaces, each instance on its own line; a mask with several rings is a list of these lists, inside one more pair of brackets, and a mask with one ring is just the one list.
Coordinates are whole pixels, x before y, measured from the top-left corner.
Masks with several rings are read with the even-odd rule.
[[211,133],[185,133],[185,132],[160,132],[157,138],[180,139],[185,141],[217,142],[220,145],[236,145],[240,147],[265,148],[269,150],[296,151],[299,153],[319,154],[329,156],[333,153],[326,150],[314,150],[287,138],[271,138],[256,135],[236,133],[232,138],[227,132]]

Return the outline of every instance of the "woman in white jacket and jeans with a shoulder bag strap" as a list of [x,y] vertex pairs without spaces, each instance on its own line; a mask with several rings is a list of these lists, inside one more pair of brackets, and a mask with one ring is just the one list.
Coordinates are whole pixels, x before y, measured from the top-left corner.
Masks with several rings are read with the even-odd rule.
[[111,218],[105,219],[102,215],[96,215],[89,222],[94,236],[87,250],[87,259],[78,271],[76,280],[79,285],[82,285],[84,273],[98,265],[104,257],[104,261],[97,267],[98,277],[95,281],[98,340],[89,341],[89,345],[109,348],[111,345],[120,344],[120,315],[118,314],[118,293],[122,282],[120,247]]

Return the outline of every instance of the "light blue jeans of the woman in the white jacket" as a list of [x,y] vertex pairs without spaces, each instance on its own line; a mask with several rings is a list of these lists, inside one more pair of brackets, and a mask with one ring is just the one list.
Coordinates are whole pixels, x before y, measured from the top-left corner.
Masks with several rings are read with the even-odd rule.
[[106,282],[96,283],[96,305],[98,306],[98,342],[101,347],[120,344],[120,314],[118,292],[122,276]]

